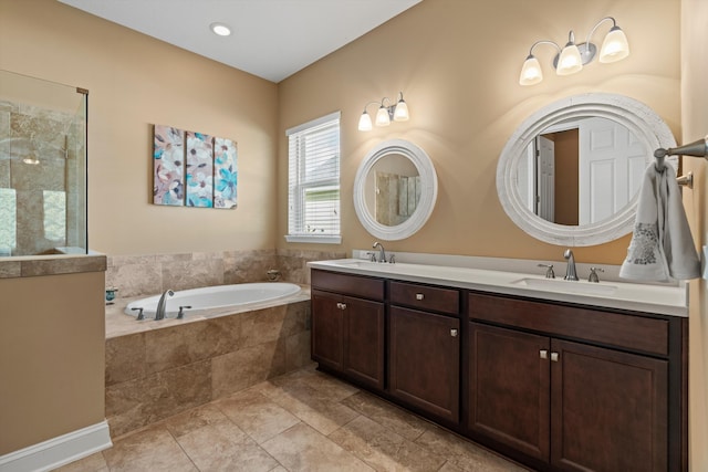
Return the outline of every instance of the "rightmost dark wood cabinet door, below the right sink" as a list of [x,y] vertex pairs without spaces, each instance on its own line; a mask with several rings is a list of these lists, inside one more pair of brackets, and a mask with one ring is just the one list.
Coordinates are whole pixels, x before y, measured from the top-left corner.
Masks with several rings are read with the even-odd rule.
[[668,363],[558,339],[551,350],[552,463],[666,471]]

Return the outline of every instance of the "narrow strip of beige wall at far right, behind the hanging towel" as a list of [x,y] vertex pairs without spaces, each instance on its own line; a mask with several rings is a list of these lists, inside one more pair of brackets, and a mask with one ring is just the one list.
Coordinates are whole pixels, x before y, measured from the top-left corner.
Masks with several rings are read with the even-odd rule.
[[[708,2],[681,1],[681,123],[679,143],[686,144],[708,134]],[[708,185],[706,161],[685,158],[686,171],[693,171],[693,191],[684,192],[684,206],[699,245],[708,242]],[[689,428],[690,470],[708,470],[708,285],[690,284],[689,319]]]

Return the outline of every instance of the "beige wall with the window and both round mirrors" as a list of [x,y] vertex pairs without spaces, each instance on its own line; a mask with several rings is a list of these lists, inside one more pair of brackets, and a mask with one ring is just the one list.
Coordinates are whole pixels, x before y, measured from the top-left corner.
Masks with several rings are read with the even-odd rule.
[[[503,4],[503,6],[502,6]],[[572,2],[566,0],[425,0],[361,40],[281,82],[279,188],[287,185],[284,130],[342,111],[342,245],[374,241],[358,223],[352,201],[356,168],[384,139],[410,139],[433,159],[439,193],[435,211],[414,237],[388,242],[394,251],[491,255],[562,261],[563,248],[539,242],[506,216],[496,189],[499,153],[514,128],[539,107],[562,97],[605,92],[654,108],[675,134],[679,128],[679,0]],[[502,8],[503,7],[503,8]],[[537,40],[563,43],[570,29],[585,38],[605,15],[626,31],[632,55],[616,64],[594,62],[570,77],[554,76],[554,50],[537,49],[546,78],[518,84]],[[660,34],[656,25],[662,25]],[[601,42],[610,24],[596,34]],[[356,130],[363,106],[403,91],[410,120]],[[373,107],[372,107],[373,111]],[[369,113],[372,112],[369,111]],[[277,243],[285,247],[287,195],[279,193]],[[446,238],[439,238],[445,232]],[[628,238],[577,249],[583,262],[620,264]]]

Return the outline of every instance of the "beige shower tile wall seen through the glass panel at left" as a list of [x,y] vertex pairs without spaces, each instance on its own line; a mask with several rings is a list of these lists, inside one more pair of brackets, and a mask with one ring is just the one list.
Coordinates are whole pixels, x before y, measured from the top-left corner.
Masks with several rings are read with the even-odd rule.
[[[11,255],[54,253],[54,248],[66,245],[85,248],[85,214],[76,211],[85,193],[83,170],[77,172],[84,168],[84,153],[76,149],[76,136],[83,129],[72,125],[73,120],[66,113],[0,101],[0,188],[13,189],[17,202],[17,247]],[[25,158],[39,164],[27,164]],[[60,214],[65,217],[61,220],[45,216],[45,191],[63,193]],[[13,203],[8,195],[0,199],[2,206]],[[60,230],[59,235],[48,229],[51,224]],[[7,231],[9,224],[4,227]],[[8,250],[0,248],[0,254],[10,255]]]

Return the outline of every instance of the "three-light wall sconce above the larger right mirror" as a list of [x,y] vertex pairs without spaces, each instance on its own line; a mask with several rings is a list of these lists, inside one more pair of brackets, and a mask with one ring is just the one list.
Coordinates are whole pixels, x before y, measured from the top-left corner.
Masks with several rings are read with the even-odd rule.
[[591,43],[590,39],[595,30],[597,30],[597,27],[606,20],[612,21],[612,28],[610,29],[610,32],[607,32],[607,35],[602,43],[602,48],[600,49],[600,62],[607,64],[611,62],[622,61],[628,56],[629,44],[627,43],[627,36],[625,36],[624,31],[617,27],[617,22],[614,18],[606,17],[593,27],[584,43],[575,44],[575,35],[572,30],[568,35],[568,43],[563,49],[549,40],[537,41],[533,43],[529,51],[529,56],[521,69],[519,84],[534,85],[543,80],[541,64],[539,64],[539,60],[533,55],[533,49],[539,44],[552,44],[558,50],[558,54],[553,59],[553,67],[555,67],[555,73],[558,75],[570,75],[582,71],[583,65],[592,62],[595,57],[595,53],[597,52],[597,46]]

